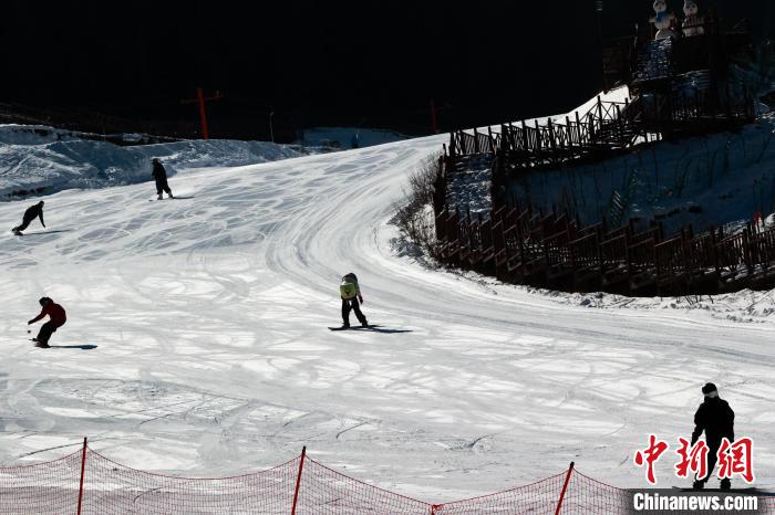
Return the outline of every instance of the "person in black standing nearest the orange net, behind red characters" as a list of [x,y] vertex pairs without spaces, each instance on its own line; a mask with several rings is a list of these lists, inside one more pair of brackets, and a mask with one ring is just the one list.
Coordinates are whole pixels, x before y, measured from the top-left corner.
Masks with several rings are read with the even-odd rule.
[[[716,464],[716,454],[721,446],[721,440],[726,438],[730,443],[735,440],[735,412],[732,411],[730,404],[719,397],[719,390],[712,382],[702,387],[702,393],[705,396],[698,412],[694,413],[694,432],[692,433],[692,445],[705,431],[705,443],[707,444],[707,475],[703,480],[694,481],[694,488],[702,490],[711,477],[713,467]],[[721,480],[721,490],[730,490],[731,482],[728,479]]]

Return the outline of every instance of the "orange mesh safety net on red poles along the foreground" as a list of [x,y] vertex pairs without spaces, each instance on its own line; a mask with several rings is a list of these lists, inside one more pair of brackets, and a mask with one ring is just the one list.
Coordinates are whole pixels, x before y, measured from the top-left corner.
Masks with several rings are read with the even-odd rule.
[[[131,469],[87,446],[44,463],[0,466],[0,514],[3,515],[623,515],[631,512],[630,491],[593,480],[572,465],[566,472],[528,485],[444,504],[417,501],[370,485],[307,458],[304,452],[266,471],[215,479],[176,477]],[[775,515],[775,497],[760,496],[757,513]]]

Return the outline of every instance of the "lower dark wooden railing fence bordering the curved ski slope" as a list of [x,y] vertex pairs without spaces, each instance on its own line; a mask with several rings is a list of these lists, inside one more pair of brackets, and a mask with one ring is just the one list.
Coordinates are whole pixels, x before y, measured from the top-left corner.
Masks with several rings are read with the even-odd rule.
[[661,225],[579,227],[530,209],[486,218],[444,209],[436,235],[444,263],[537,287],[651,296],[775,285],[775,229],[756,224],[728,235],[686,228],[665,237]]

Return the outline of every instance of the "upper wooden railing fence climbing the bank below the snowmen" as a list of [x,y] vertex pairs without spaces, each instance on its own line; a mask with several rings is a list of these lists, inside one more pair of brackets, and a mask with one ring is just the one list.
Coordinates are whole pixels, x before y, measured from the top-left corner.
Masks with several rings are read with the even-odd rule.
[[642,96],[632,102],[598,97],[587,113],[576,112],[560,120],[503,124],[499,132],[453,132],[445,151],[452,159],[499,154],[516,168],[556,167],[582,158],[607,158],[650,137],[719,130],[754,119],[750,93],[733,94],[728,87],[722,98],[707,91]]

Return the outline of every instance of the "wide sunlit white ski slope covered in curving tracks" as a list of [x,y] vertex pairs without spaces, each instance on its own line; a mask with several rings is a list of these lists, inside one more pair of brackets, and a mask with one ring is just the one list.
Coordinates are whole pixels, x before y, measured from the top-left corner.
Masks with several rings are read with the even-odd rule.
[[[178,200],[148,202],[152,183],[45,197],[48,229],[0,245],[0,463],[61,456],[89,435],[117,462],[187,476],[265,469],[307,445],[348,475],[440,502],[570,461],[642,486],[634,451],[649,433],[689,435],[713,381],[737,435],[755,440],[758,485],[773,487],[772,293],[684,309],[397,256],[392,206],[444,141],[182,171]],[[0,204],[3,227],[31,203]],[[328,330],[347,272],[379,330]],[[27,340],[42,295],[68,311],[56,348]],[[658,463],[660,485],[679,484],[673,458]]]

